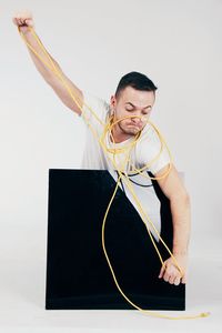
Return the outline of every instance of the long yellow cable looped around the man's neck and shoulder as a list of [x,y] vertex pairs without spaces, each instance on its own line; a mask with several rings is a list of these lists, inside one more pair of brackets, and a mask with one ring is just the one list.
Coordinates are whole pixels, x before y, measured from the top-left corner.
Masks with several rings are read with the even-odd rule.
[[[90,130],[92,131],[93,135],[95,137],[95,139],[99,141],[101,148],[103,149],[103,152],[107,154],[107,157],[108,157],[109,160],[111,161],[113,168],[114,168],[115,170],[118,170],[118,172],[119,172],[119,178],[118,178],[118,181],[117,181],[117,185],[115,185],[115,189],[114,189],[114,191],[113,191],[112,198],[111,198],[111,200],[110,200],[110,202],[109,202],[108,209],[107,209],[105,214],[104,214],[104,218],[103,218],[103,223],[102,223],[102,248],[103,248],[103,252],[104,252],[105,259],[107,259],[107,261],[108,261],[109,268],[110,268],[110,270],[111,270],[111,273],[112,273],[112,276],[113,276],[113,280],[114,280],[114,282],[115,282],[115,285],[117,285],[118,290],[120,291],[120,293],[122,294],[122,296],[123,296],[123,297],[124,297],[132,306],[134,306],[134,307],[138,309],[139,311],[141,311],[141,312],[143,312],[143,313],[145,313],[145,314],[149,314],[149,315],[151,315],[151,316],[163,317],[163,319],[169,319],[169,320],[198,319],[198,317],[205,317],[205,316],[208,316],[209,313],[200,313],[200,314],[196,314],[196,315],[170,316],[170,315],[164,315],[164,314],[160,314],[160,313],[157,313],[157,312],[152,312],[152,311],[148,311],[148,310],[141,309],[141,307],[138,306],[135,303],[133,303],[133,302],[124,294],[124,292],[123,292],[122,289],[120,287],[119,283],[118,283],[118,281],[117,281],[114,271],[113,271],[113,269],[112,269],[112,265],[111,265],[111,263],[110,263],[110,260],[109,260],[107,250],[105,250],[105,244],[104,244],[104,226],[105,226],[105,220],[107,220],[107,216],[108,216],[110,206],[111,206],[111,204],[112,204],[112,201],[113,201],[113,199],[114,199],[114,196],[115,196],[118,186],[119,186],[119,184],[120,184],[120,180],[122,180],[122,181],[125,183],[125,185],[128,186],[129,191],[131,192],[132,196],[134,198],[134,200],[135,200],[135,202],[137,202],[138,209],[139,209],[141,215],[143,216],[142,220],[143,220],[143,222],[144,222],[144,224],[145,224],[145,226],[147,226],[149,236],[150,236],[150,239],[151,239],[151,241],[152,241],[152,243],[153,243],[153,246],[155,248],[155,251],[157,251],[157,253],[158,253],[158,255],[159,255],[159,259],[160,259],[162,265],[164,265],[163,260],[162,260],[162,256],[161,256],[161,254],[160,254],[160,252],[159,252],[159,250],[158,250],[158,248],[157,248],[157,245],[155,245],[155,243],[154,243],[154,241],[153,241],[153,236],[152,236],[152,234],[151,234],[151,232],[150,232],[150,228],[148,226],[148,224],[147,224],[147,222],[145,222],[144,220],[148,220],[148,222],[150,223],[150,226],[151,226],[151,228],[153,229],[153,231],[158,234],[160,241],[163,243],[163,245],[165,246],[165,249],[167,249],[168,252],[170,253],[170,255],[171,255],[171,258],[172,258],[174,264],[176,265],[178,270],[180,271],[181,276],[183,276],[183,272],[182,272],[181,268],[179,266],[179,264],[178,264],[178,262],[176,262],[174,255],[172,254],[172,252],[170,251],[170,249],[168,248],[168,245],[164,243],[164,241],[163,241],[162,238],[160,236],[160,234],[159,234],[157,228],[154,226],[154,224],[152,223],[152,221],[149,219],[149,216],[148,216],[148,215],[145,214],[145,212],[143,211],[143,209],[142,209],[142,206],[141,206],[141,204],[140,204],[140,202],[139,202],[139,200],[138,200],[138,198],[137,198],[137,195],[135,195],[135,193],[134,193],[134,191],[133,191],[133,188],[132,188],[132,184],[131,184],[131,182],[130,182],[130,179],[129,179],[129,176],[128,176],[128,174],[130,175],[130,171],[129,171],[128,173],[127,173],[127,172],[124,173],[124,171],[125,171],[125,165],[127,165],[127,164],[131,164],[131,167],[133,167],[133,171],[132,171],[133,173],[137,172],[137,173],[142,174],[143,176],[147,176],[147,174],[143,174],[142,171],[145,170],[145,169],[148,169],[152,163],[154,163],[154,162],[159,159],[159,157],[160,157],[160,154],[161,154],[161,152],[162,152],[162,150],[163,150],[163,144],[165,144],[165,148],[167,148],[167,150],[168,150],[168,153],[169,153],[170,160],[171,160],[171,162],[170,162],[170,164],[169,164],[169,169],[167,170],[167,172],[165,172],[163,175],[161,175],[161,176],[159,176],[159,178],[151,178],[151,176],[149,176],[149,179],[159,180],[159,179],[163,179],[164,176],[167,176],[167,175],[169,174],[169,172],[170,172],[170,170],[171,170],[171,167],[172,167],[172,155],[171,155],[170,150],[169,150],[169,148],[168,148],[168,145],[167,145],[167,143],[165,143],[163,137],[161,135],[160,131],[158,130],[158,128],[157,128],[150,120],[148,121],[148,122],[151,124],[151,127],[155,130],[155,132],[157,132],[157,134],[158,134],[158,137],[159,137],[159,139],[160,139],[160,142],[161,142],[161,149],[160,149],[160,152],[157,154],[157,157],[154,157],[154,159],[152,159],[152,160],[150,161],[150,163],[148,163],[147,165],[144,165],[144,167],[141,168],[141,169],[137,169],[134,165],[132,165],[132,163],[131,163],[131,161],[130,161],[130,152],[132,151],[133,147],[134,147],[134,145],[137,144],[137,142],[139,141],[139,139],[140,139],[140,133],[137,134],[137,135],[134,137],[134,140],[132,141],[132,143],[130,143],[128,147],[124,147],[124,148],[121,148],[121,149],[110,149],[110,148],[108,148],[108,147],[105,145],[105,135],[107,135],[107,133],[110,132],[110,135],[112,137],[112,133],[111,133],[112,127],[115,125],[119,121],[122,121],[122,120],[125,119],[125,118],[132,118],[133,115],[132,115],[132,117],[125,117],[125,118],[122,118],[122,119],[120,119],[120,120],[118,120],[118,121],[114,121],[114,119],[113,119],[113,117],[112,117],[112,118],[110,118],[110,120],[108,121],[108,124],[105,124],[105,123],[103,123],[103,122],[99,119],[99,117],[97,115],[97,113],[95,113],[95,112],[94,112],[94,111],[93,111],[93,110],[92,110],[92,109],[83,101],[83,104],[91,111],[92,115],[97,119],[97,121],[98,121],[98,122],[103,127],[103,129],[104,129],[102,135],[99,138],[97,131],[95,131],[95,130],[93,129],[93,127],[89,123],[89,121],[88,121],[88,119],[87,119],[87,117],[85,117],[85,114],[84,114],[83,107],[80,105],[80,103],[79,103],[79,101],[78,101],[78,98],[73,94],[73,92],[71,91],[69,84],[65,82],[65,80],[64,80],[64,78],[63,78],[61,71],[60,71],[59,69],[57,69],[57,67],[54,65],[54,62],[53,62],[52,59],[50,58],[49,53],[48,53],[47,50],[44,49],[43,44],[41,43],[40,39],[39,39],[38,36],[36,34],[36,32],[33,31],[33,29],[29,27],[29,30],[30,30],[31,33],[33,34],[33,37],[34,37],[34,39],[37,40],[38,44],[40,46],[41,50],[46,53],[47,58],[49,59],[49,63],[48,63],[48,62],[47,62],[47,61],[46,61],[46,60],[44,60],[44,59],[43,59],[43,58],[42,58],[42,57],[41,57],[33,48],[32,48],[32,46],[26,40],[26,38],[24,38],[23,33],[20,31],[20,28],[19,28],[19,27],[18,27],[18,30],[19,30],[19,33],[20,33],[20,36],[22,37],[23,41],[26,42],[27,47],[28,47],[28,48],[29,48],[29,49],[30,49],[30,50],[31,50],[31,51],[32,51],[32,52],[33,52],[33,53],[34,53],[34,54],[36,54],[43,63],[44,63],[44,65],[47,65],[47,67],[48,67],[48,68],[49,68],[49,69],[50,69],[50,70],[51,70],[51,71],[52,71],[60,80],[61,80],[62,84],[63,84],[64,88],[67,89],[67,91],[68,91],[68,93],[70,94],[70,97],[72,98],[72,100],[75,102],[75,104],[77,104],[77,105],[79,107],[79,109],[82,111],[82,117],[84,118],[85,122],[88,123],[88,125],[89,125]],[[139,118],[139,117],[137,117],[137,118]],[[113,140],[113,137],[112,137],[112,140]],[[113,140],[113,142],[114,142],[114,140]],[[112,154],[113,154],[113,159],[111,159],[110,155],[109,155],[108,153],[112,153]],[[122,163],[122,168],[121,168],[121,169],[117,165],[117,162],[115,162],[115,154],[117,154],[117,153],[122,153],[122,154],[125,153],[125,160],[124,160],[124,163]]]

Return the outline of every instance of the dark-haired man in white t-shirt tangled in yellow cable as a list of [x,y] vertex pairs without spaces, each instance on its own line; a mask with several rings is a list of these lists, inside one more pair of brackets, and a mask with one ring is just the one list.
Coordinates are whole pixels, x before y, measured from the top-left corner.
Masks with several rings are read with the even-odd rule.
[[[13,22],[20,28],[20,31],[24,34],[28,43],[38,54],[40,54],[41,59],[44,59],[46,62],[48,62],[46,53],[42,52],[42,49],[29,30],[29,27],[33,28],[32,16],[29,12],[17,13],[13,17]],[[157,90],[157,87],[149,78],[138,72],[128,73],[120,80],[115,93],[111,97],[110,103],[107,103],[101,99],[81,91],[68,77],[65,77],[56,60],[48,53],[56,68],[61,72],[63,80],[70,87],[73,95],[77,97],[79,101],[78,105],[70,97],[62,81],[48,69],[48,67],[30,49],[29,52],[38,71],[46,82],[54,90],[61,101],[78,115],[82,117],[88,125],[92,125],[99,137],[103,133],[104,125],[97,120],[84,102],[97,112],[103,124],[107,124],[112,115],[114,115],[115,121],[128,115],[132,117],[121,120],[113,125],[112,131],[104,138],[104,143],[108,148],[123,148],[125,144],[132,143],[135,135],[141,133],[141,135],[143,135],[142,140],[139,141],[131,154],[132,164],[134,164],[137,169],[140,169],[158,154],[160,141],[152,127],[147,123],[154,104]],[[89,131],[82,168],[112,170],[113,165],[110,164],[111,160],[108,157],[109,153],[104,154],[101,145]],[[123,162],[121,154],[117,154],[115,162],[117,165],[121,167]],[[160,159],[155,161],[149,170],[154,176],[161,176],[168,170],[169,162],[168,153],[163,150]],[[127,168],[130,170],[131,167],[127,165]],[[138,176],[139,179],[137,182],[140,182],[142,175],[139,174]],[[133,179],[133,181],[135,179]],[[169,258],[164,262],[165,265],[162,266],[159,278],[171,284],[179,285],[180,283],[186,282],[188,248],[190,238],[190,199],[174,165],[172,165],[170,173],[165,178],[158,180],[158,183],[162,192],[170,200],[173,220],[172,253],[184,272],[184,275],[181,278],[180,271],[173,260]],[[150,185],[148,184],[147,186],[149,188]],[[130,194],[128,193],[128,195]],[[143,201],[145,201],[144,196]],[[153,205],[155,203],[153,202]],[[160,230],[160,225],[155,226]]]

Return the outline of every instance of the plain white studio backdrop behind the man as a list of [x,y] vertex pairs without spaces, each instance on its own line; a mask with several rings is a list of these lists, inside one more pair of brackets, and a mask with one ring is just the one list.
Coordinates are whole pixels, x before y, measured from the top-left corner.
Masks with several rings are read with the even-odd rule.
[[[44,263],[49,169],[80,168],[84,144],[81,120],[37,72],[11,21],[22,9],[32,11],[36,32],[80,89],[109,100],[127,72],[140,71],[153,80],[159,89],[151,120],[165,137],[175,167],[185,173],[192,200],[191,249],[200,255],[219,250],[222,1],[3,0],[1,261],[10,262],[17,253],[18,262],[36,255],[36,263]],[[13,293],[16,281],[6,281]],[[26,283],[19,290],[28,295]]]

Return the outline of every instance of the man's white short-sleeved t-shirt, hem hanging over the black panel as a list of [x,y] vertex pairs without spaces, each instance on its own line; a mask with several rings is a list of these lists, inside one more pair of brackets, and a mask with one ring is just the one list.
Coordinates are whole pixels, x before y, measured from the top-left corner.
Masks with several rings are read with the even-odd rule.
[[[104,153],[100,143],[99,138],[103,134],[104,125],[108,122],[108,119],[111,113],[110,104],[93,94],[90,94],[88,92],[83,92],[84,97],[84,103],[87,105],[83,105],[82,112],[80,117],[83,119],[83,122],[88,127],[87,131],[87,141],[85,141],[85,148],[83,152],[83,159],[82,159],[82,169],[90,169],[90,170],[108,170],[110,174],[117,181],[118,173],[117,169],[122,167],[122,163],[125,159],[125,154],[118,153],[115,154],[115,165],[113,165],[113,153]],[[89,108],[91,110],[89,110]],[[95,113],[97,117],[93,115],[92,111]],[[87,118],[87,121],[85,121]],[[99,120],[98,120],[98,119]],[[92,133],[97,135],[97,138]],[[112,143],[110,135],[107,134],[104,138],[104,143],[108,148],[122,148],[129,144],[132,140],[134,140],[133,137],[130,139],[120,142],[120,143]],[[159,153],[161,148],[161,142],[158,138],[158,134],[155,133],[154,129],[148,123],[144,129],[141,132],[141,137],[134,148],[131,151],[130,160],[133,165],[135,165],[137,169],[141,169],[144,165],[147,165],[155,155]],[[133,191],[137,194],[138,199],[140,200],[140,203],[144,210],[144,212],[148,214],[148,216],[151,219],[155,228],[158,229],[159,233],[161,231],[161,220],[160,220],[160,201],[154,192],[153,185],[151,180],[149,179],[148,171],[151,171],[154,175],[158,171],[160,171],[163,167],[165,167],[170,162],[169,154],[167,152],[167,149],[163,148],[159,159],[149,167],[148,170],[145,170],[142,175],[134,173],[130,175],[131,185],[133,186]],[[117,168],[114,168],[117,167]],[[131,165],[128,163],[124,168],[125,172],[131,170]],[[143,174],[147,175],[143,176]],[[138,210],[138,204],[134,201],[131,192],[129,191],[127,184],[122,182],[120,184],[120,188],[122,191],[124,191],[125,195],[129,198],[131,203],[135,206]],[[139,214],[141,215],[140,211],[138,210]],[[142,218],[142,216],[141,216]],[[149,222],[147,222],[149,225]],[[152,232],[151,228],[151,232]],[[158,236],[155,233],[152,232],[155,240],[158,241]]]

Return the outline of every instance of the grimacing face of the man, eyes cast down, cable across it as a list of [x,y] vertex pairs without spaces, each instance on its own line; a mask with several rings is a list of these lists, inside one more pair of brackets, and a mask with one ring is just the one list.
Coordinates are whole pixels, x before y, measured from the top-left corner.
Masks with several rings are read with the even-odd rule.
[[[117,123],[119,132],[135,135],[147,124],[152,107],[154,104],[153,91],[140,91],[132,87],[127,87],[120,92],[118,99],[111,97],[111,108],[114,120],[133,115]],[[142,118],[138,118],[142,117]]]

